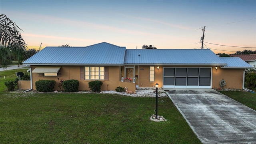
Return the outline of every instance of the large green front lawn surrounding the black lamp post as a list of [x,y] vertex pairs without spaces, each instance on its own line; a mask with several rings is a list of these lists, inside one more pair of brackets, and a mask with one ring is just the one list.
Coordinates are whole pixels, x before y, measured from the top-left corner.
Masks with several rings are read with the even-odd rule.
[[117,94],[0,95],[0,142],[26,144],[200,144],[170,98]]

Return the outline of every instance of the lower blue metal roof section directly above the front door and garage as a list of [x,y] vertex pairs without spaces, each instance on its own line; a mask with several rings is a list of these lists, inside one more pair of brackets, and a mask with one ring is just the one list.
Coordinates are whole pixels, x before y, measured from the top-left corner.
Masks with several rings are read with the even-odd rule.
[[128,49],[124,64],[226,65],[210,49]]

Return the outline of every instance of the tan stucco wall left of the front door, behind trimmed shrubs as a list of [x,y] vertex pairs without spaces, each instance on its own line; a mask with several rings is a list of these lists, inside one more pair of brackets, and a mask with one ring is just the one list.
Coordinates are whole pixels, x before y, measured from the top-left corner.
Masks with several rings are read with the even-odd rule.
[[[32,71],[37,66],[32,66]],[[109,73],[109,80],[101,80],[103,82],[101,86],[101,90],[115,90],[116,87],[122,86],[122,87],[128,87],[128,90],[131,90],[132,92],[135,92],[136,85],[134,83],[128,83],[128,82],[120,82],[120,66],[108,66],[108,73]],[[80,80],[80,66],[62,66],[60,68],[61,73],[60,76],[54,76],[54,77],[45,77],[45,76],[39,76],[39,74],[32,74],[32,89],[36,90],[35,83],[37,80],[55,80],[56,85],[54,87],[54,90],[60,90],[58,87],[58,79],[62,78],[62,80],[78,80],[79,81],[79,88],[78,90],[90,90],[88,82],[94,81],[94,80]]]

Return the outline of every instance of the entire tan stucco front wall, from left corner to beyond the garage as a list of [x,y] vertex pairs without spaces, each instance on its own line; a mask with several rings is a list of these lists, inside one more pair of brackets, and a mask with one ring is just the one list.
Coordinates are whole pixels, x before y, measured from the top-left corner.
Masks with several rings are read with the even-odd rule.
[[[37,66],[32,66],[32,70]],[[101,80],[103,85],[101,90],[115,90],[116,87],[128,87],[128,90],[135,92],[136,85],[139,87],[153,87],[158,83],[159,87],[163,85],[163,67],[211,67],[211,66],[160,66],[159,70],[155,66],[155,79],[154,82],[150,82],[149,73],[150,66],[135,66],[135,74],[138,75],[136,84],[120,82],[121,77],[124,76],[124,66],[108,66],[109,68],[109,80]],[[121,70],[122,69],[122,70]],[[236,88],[242,89],[243,84],[243,71],[244,69],[222,69],[218,67],[215,70],[215,66],[212,66],[212,88],[219,88],[220,80],[224,79],[226,81],[226,86],[224,88]],[[121,72],[121,74],[120,74]],[[44,77],[39,76],[39,74],[32,74],[32,89],[36,90],[35,82],[37,80],[55,80],[56,85],[54,90],[60,90],[58,87],[58,79],[62,78],[63,80],[75,79],[79,81],[79,90],[90,90],[88,82],[93,80],[80,80],[80,66],[62,66],[60,69],[61,75],[58,77]],[[30,84],[29,84],[30,88]],[[28,89],[29,89],[28,88]]]

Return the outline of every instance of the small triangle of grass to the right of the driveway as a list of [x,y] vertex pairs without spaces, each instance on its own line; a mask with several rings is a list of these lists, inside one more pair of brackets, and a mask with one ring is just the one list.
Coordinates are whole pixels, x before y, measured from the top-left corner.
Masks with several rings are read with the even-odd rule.
[[256,93],[242,91],[219,91],[222,94],[256,110]]

